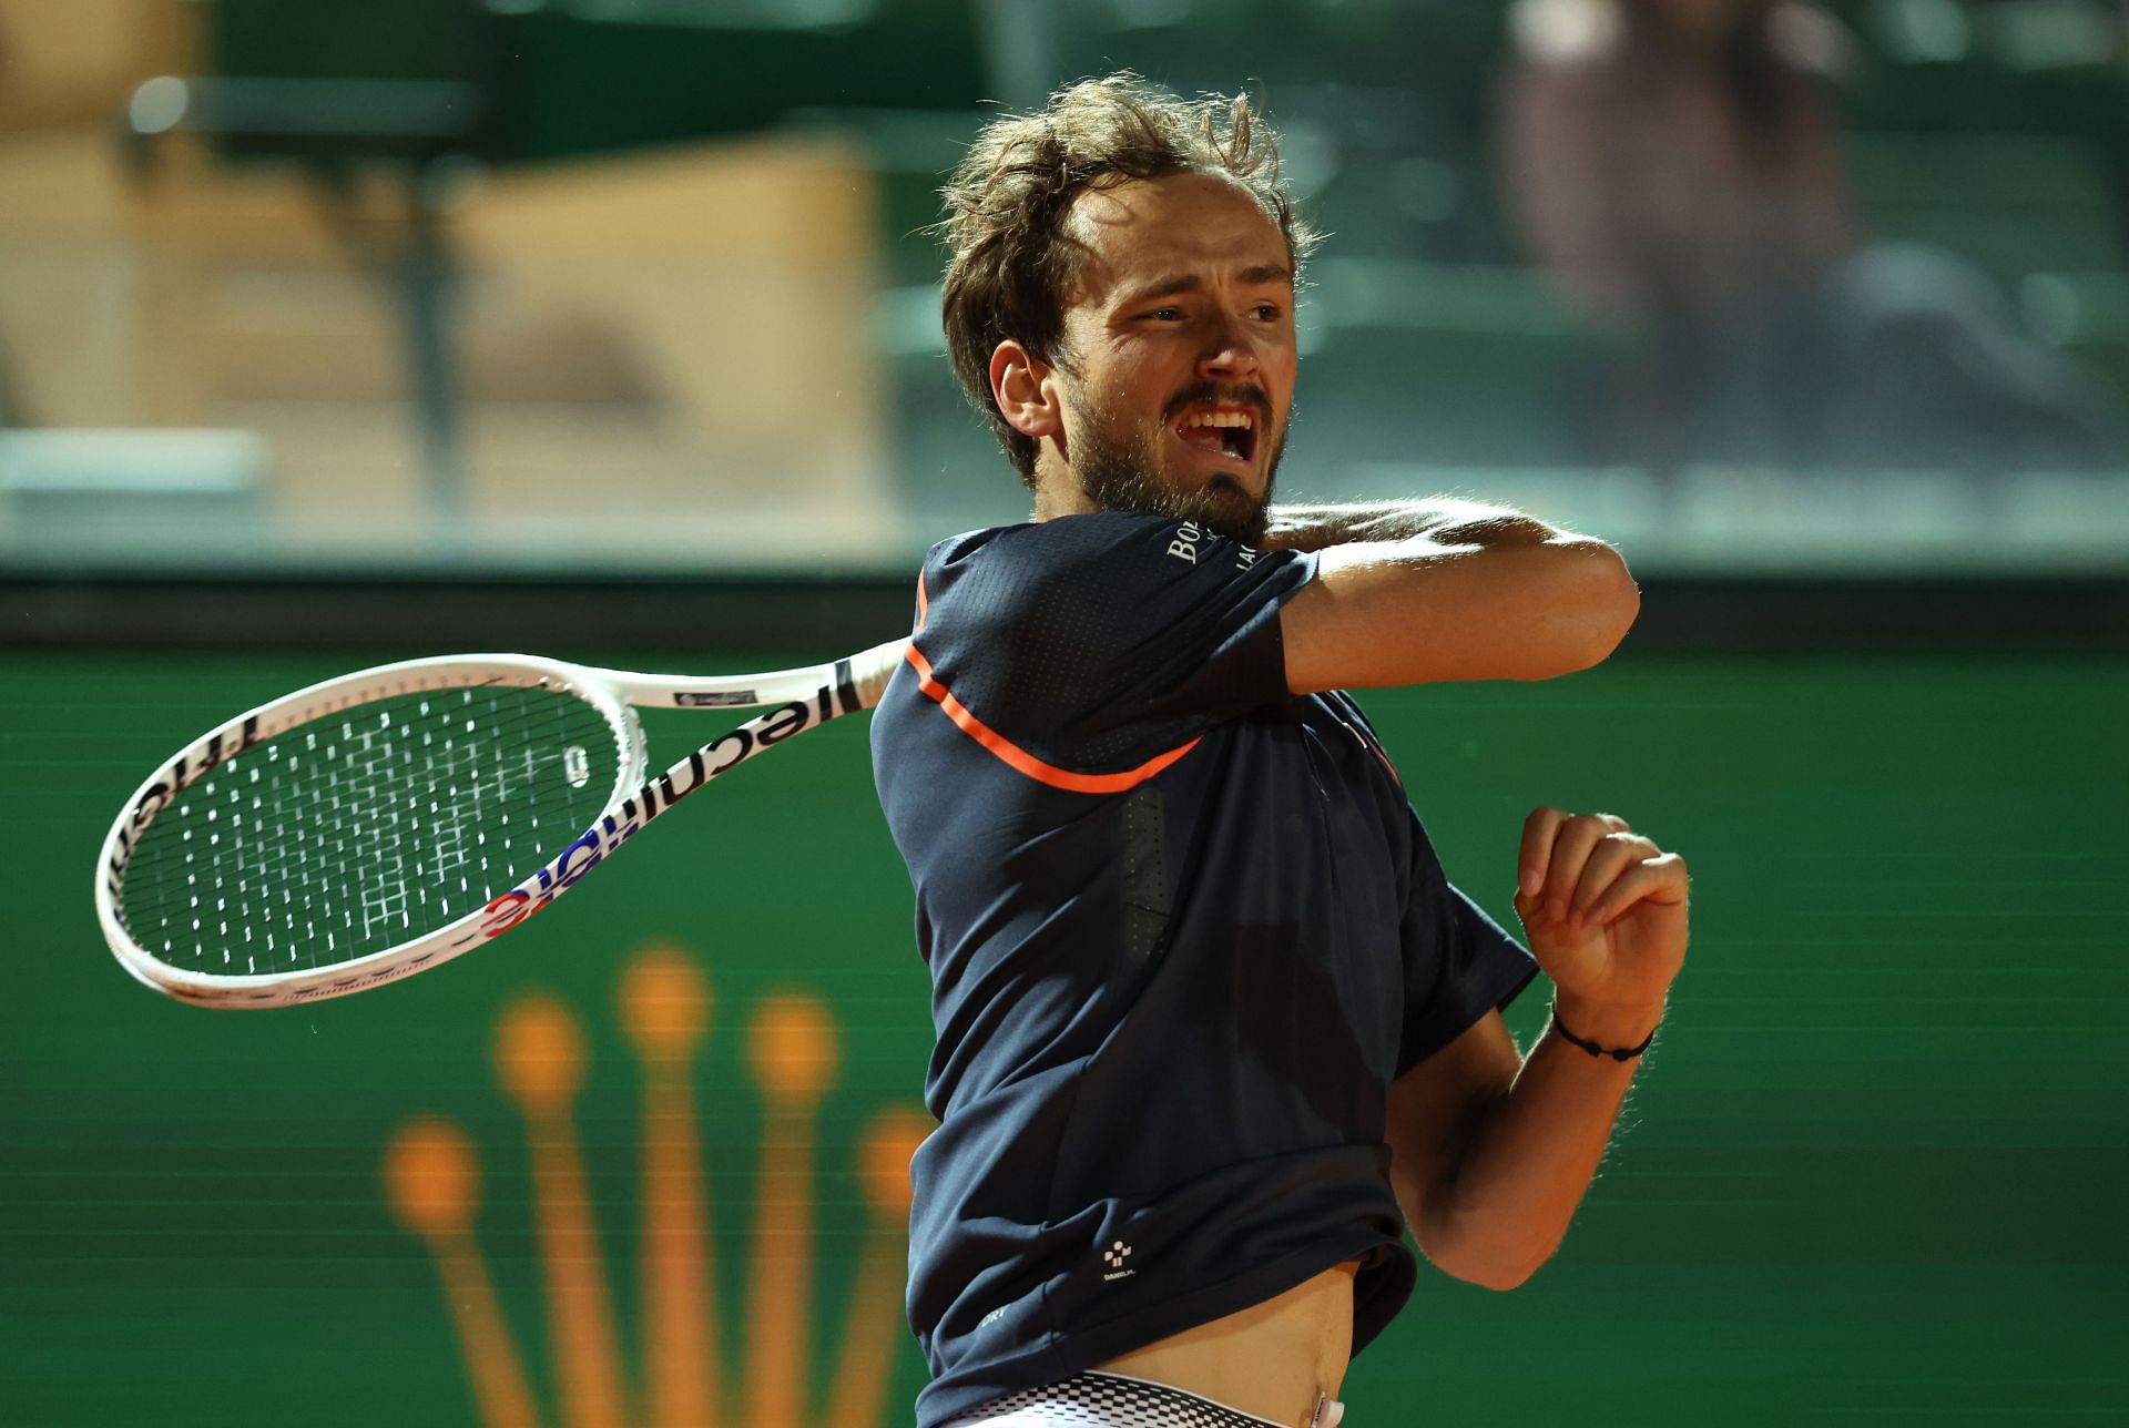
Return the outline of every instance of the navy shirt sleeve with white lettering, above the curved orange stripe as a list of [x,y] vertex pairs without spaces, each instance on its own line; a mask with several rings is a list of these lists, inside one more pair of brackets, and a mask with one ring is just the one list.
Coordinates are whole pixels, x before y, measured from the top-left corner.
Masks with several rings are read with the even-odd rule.
[[1314,570],[1148,515],[1009,526],[933,549],[915,649],[996,738],[1113,773],[1288,698],[1280,607]]

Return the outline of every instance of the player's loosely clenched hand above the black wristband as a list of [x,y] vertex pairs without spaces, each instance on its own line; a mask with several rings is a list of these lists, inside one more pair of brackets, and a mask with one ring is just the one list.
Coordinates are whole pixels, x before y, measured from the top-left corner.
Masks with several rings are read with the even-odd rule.
[[1537,809],[1522,824],[1516,915],[1561,992],[1561,1019],[1639,1045],[1686,964],[1686,862],[1610,813]]

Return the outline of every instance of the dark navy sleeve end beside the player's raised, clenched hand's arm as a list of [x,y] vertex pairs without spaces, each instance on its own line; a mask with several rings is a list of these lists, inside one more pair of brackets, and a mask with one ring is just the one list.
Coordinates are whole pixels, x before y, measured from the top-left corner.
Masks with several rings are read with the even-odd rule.
[[1537,958],[1443,877],[1426,834],[1414,828],[1414,838],[1397,1075],[1456,1041],[1488,1011],[1507,1011],[1537,975]]

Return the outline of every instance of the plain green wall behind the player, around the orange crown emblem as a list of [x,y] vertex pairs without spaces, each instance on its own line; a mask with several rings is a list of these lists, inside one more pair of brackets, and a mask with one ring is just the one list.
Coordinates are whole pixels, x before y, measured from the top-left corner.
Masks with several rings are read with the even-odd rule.
[[[381,1181],[422,1115],[477,1156],[477,1253],[539,1422],[575,1422],[543,1347],[526,1124],[494,1070],[498,1017],[530,992],[583,1034],[575,1128],[641,1402],[660,1326],[637,1298],[643,1077],[615,994],[671,945],[713,1000],[692,1087],[726,1383],[758,1356],[749,1294],[803,1279],[805,1422],[828,1424],[839,1385],[864,1398],[845,1351],[875,1215],[856,1145],[918,1100],[930,1047],[862,721],[741,770],[519,934],[409,983],[209,1013],[128,981],[89,911],[119,800],[211,721],[377,658],[0,655],[0,1422],[481,1422],[432,1253]],[[1497,915],[1524,811],[1554,802],[1684,851],[1697,936],[1561,1256],[1514,1294],[1429,1273],[1356,1364],[1350,1422],[2120,1413],[2129,753],[2106,730],[2129,668],[1627,653],[1367,704],[1450,875]],[[654,749],[711,732],[651,721]],[[811,1168],[766,1192],[811,1236],[762,1239],[747,1026],[783,994],[820,998],[839,1058]],[[1509,1017],[1524,1045],[1544,1011],[1539,981]],[[907,1422],[922,1381],[898,1322],[888,1343],[884,1407],[843,1405],[862,1422]]]

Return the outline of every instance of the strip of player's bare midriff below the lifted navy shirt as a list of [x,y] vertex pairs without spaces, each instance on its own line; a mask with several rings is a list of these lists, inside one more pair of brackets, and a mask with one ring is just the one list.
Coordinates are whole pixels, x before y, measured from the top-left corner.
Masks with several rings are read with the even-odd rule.
[[1352,1360],[1352,1277],[1326,1268],[1292,1290],[1101,1364],[1169,1383],[1273,1424],[1307,1428],[1318,1394],[1337,1398]]

